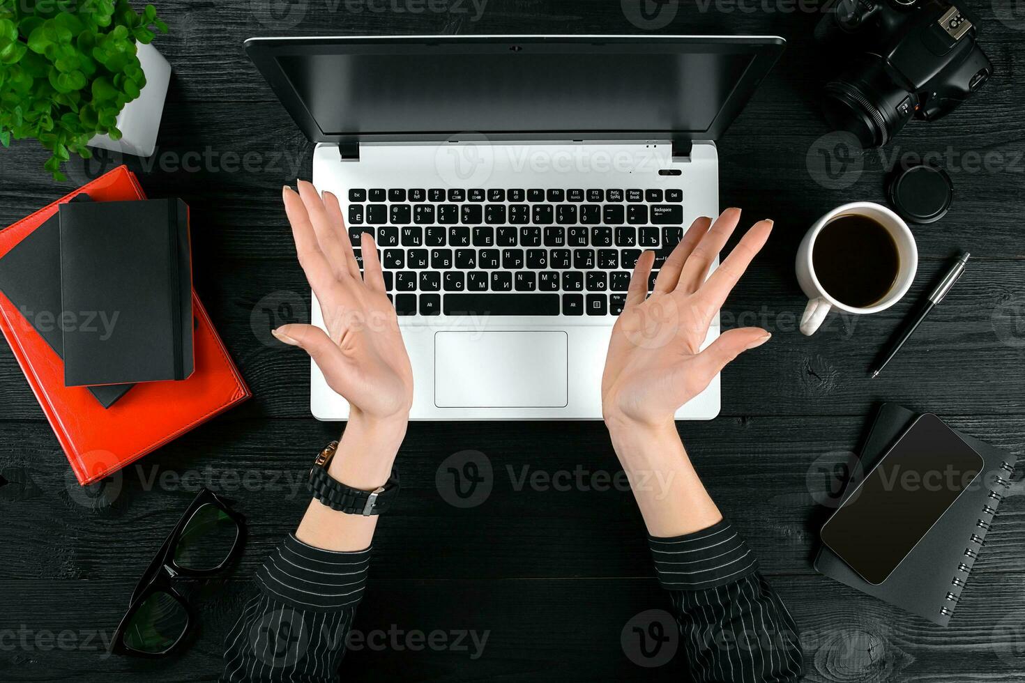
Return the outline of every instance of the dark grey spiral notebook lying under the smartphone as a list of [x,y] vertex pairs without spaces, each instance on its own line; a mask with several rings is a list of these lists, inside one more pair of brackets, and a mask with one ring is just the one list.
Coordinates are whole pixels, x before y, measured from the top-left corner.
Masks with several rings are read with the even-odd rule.
[[[862,447],[863,472],[875,466],[915,417],[911,411],[895,403],[884,403],[879,408]],[[947,626],[1003,499],[1003,492],[1011,486],[1016,462],[1014,456],[999,449],[968,434],[957,434],[985,461],[980,475],[985,485],[973,487],[958,497],[914,550],[878,586],[864,581],[825,547],[815,558],[816,570],[934,624]],[[852,478],[847,489],[852,490],[855,483],[857,480]]]

